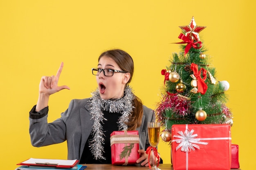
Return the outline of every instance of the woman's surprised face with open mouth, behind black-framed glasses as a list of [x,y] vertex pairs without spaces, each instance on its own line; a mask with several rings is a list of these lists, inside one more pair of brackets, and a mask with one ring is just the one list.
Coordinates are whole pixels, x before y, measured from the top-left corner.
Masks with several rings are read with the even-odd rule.
[[[107,56],[101,57],[98,68],[122,71],[117,63]],[[99,76],[96,77],[101,98],[117,99],[124,96],[124,88],[130,79],[130,73],[114,72],[113,76],[105,76],[101,71]]]

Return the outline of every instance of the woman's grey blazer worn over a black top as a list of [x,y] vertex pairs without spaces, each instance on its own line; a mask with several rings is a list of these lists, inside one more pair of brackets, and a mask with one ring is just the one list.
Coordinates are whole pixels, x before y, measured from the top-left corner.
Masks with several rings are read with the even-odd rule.
[[[88,106],[88,100],[71,100],[68,109],[61,113],[52,123],[47,123],[48,107],[42,109],[33,117],[30,112],[29,133],[31,144],[36,147],[57,144],[67,140],[67,159],[80,160],[85,142],[87,141],[94,123]],[[139,132],[139,148],[146,150],[150,146],[148,142],[147,122],[155,122],[155,114],[152,109],[143,106],[143,117],[141,126],[136,130]]]

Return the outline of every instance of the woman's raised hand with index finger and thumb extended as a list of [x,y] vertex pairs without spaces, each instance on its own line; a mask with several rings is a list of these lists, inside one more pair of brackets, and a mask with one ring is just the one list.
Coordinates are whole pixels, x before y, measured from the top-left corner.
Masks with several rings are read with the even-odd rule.
[[61,71],[63,69],[63,62],[57,71],[56,76],[43,76],[39,84],[39,97],[36,104],[36,111],[48,106],[49,96],[63,89],[70,89],[66,85],[58,86],[58,79],[60,78]]

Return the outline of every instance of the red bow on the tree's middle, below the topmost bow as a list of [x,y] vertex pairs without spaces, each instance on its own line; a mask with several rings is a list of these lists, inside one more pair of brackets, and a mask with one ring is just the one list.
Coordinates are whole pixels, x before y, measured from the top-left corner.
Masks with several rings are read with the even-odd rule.
[[[194,72],[194,76],[196,77],[197,81],[198,81],[198,92],[200,92],[201,94],[205,94],[207,91],[207,84],[204,82],[207,78],[207,71],[204,68],[201,68],[198,71],[198,65],[196,65],[195,63],[191,63],[191,70],[193,70]],[[203,78],[201,78],[201,72]]]

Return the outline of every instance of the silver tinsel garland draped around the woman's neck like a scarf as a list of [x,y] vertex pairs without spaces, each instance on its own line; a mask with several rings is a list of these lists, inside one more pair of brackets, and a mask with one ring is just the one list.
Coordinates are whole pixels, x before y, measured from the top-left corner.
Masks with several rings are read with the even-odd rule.
[[90,141],[90,150],[94,155],[94,158],[97,159],[106,159],[102,156],[104,152],[104,148],[102,144],[104,144],[103,138],[103,129],[102,123],[103,120],[106,120],[101,111],[109,111],[110,113],[121,113],[121,117],[118,121],[118,129],[119,131],[124,131],[128,129],[126,122],[129,121],[129,116],[134,108],[132,106],[132,100],[135,98],[132,93],[132,89],[130,86],[127,86],[124,91],[124,97],[118,99],[102,99],[99,94],[99,89],[95,90],[92,93],[91,102],[90,102],[90,114],[92,116],[92,120],[94,120],[94,124],[92,126],[92,134],[93,139]]

